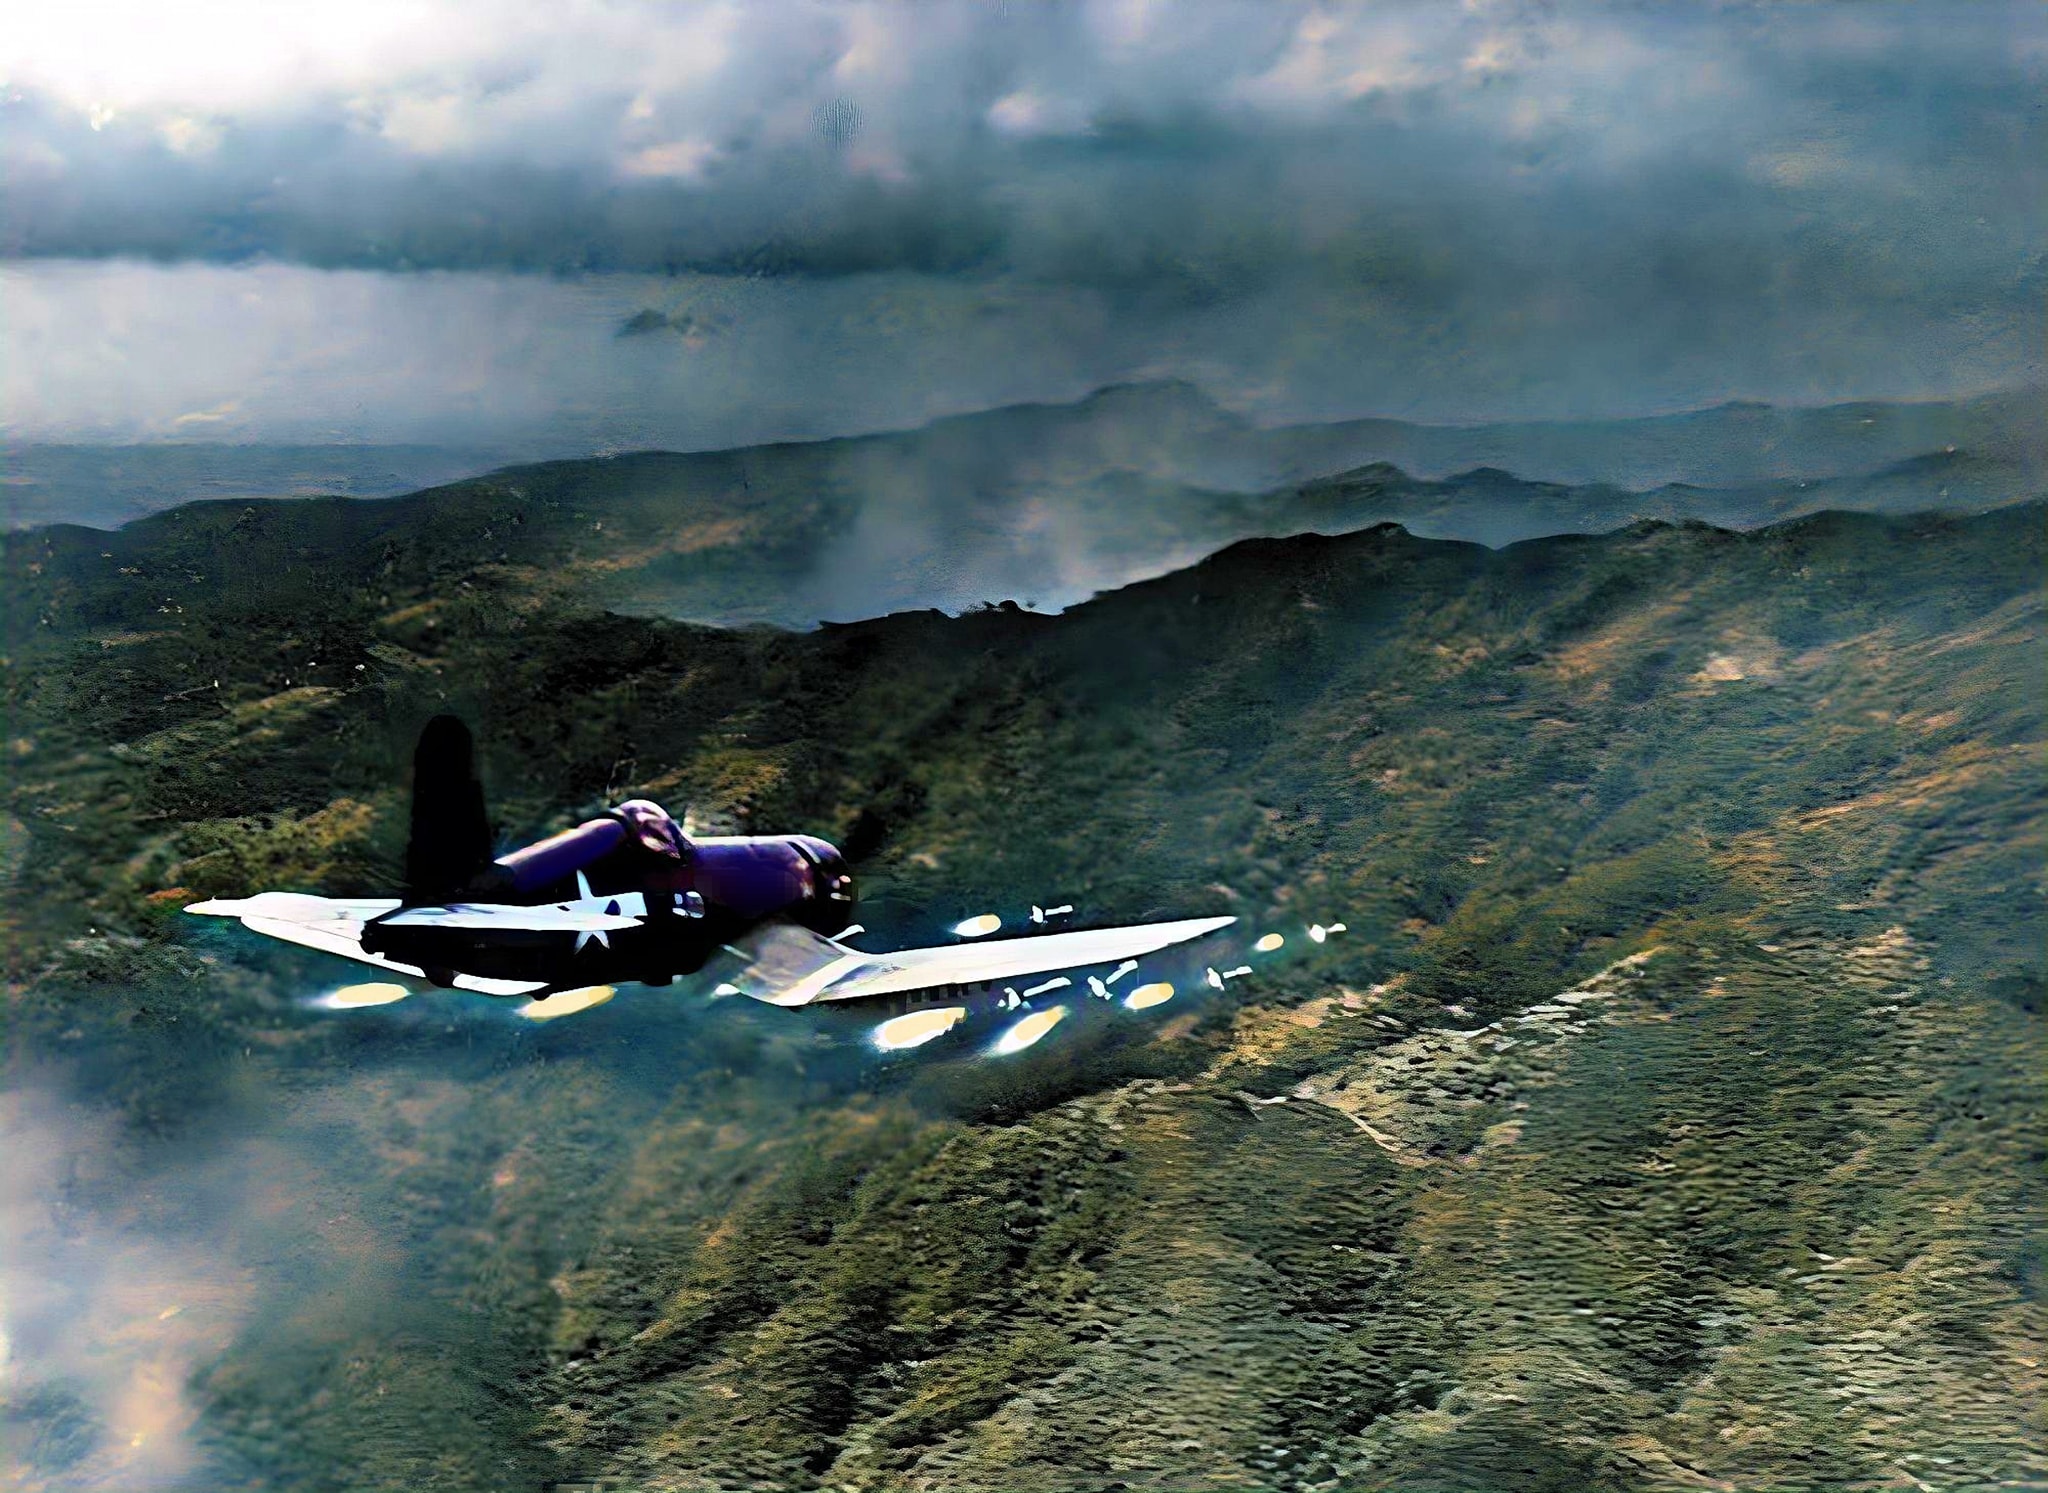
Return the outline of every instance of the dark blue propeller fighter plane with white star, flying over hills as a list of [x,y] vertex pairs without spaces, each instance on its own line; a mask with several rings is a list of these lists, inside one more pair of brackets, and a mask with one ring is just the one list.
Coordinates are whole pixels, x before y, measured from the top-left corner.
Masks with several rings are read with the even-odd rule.
[[1001,981],[1135,961],[1235,922],[864,952],[844,942],[854,877],[838,848],[813,836],[690,838],[647,799],[494,856],[475,743],[453,715],[428,721],[414,752],[403,895],[262,891],[186,911],[240,918],[258,934],[432,985],[535,999],[666,985],[725,950],[745,965],[733,987],[774,1006],[979,989],[1014,1008]]

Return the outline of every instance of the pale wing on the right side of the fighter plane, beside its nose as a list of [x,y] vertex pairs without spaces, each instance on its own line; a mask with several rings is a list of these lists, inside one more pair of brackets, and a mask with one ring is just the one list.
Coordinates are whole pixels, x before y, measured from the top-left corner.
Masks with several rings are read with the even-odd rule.
[[[817,938],[817,958],[795,977],[741,977],[748,995],[772,1006],[809,1006],[811,1001],[856,1001],[870,995],[905,995],[944,985],[985,985],[999,979],[1026,979],[1061,969],[1110,965],[1122,958],[1155,954],[1161,948],[1202,938],[1229,928],[1235,918],[1188,918],[1171,924],[1135,924],[1128,928],[1090,928],[1073,934],[1040,934],[1036,938],[1004,938],[993,944],[942,944],[938,948],[901,948],[891,954],[866,954]],[[782,930],[793,932],[793,930]]]

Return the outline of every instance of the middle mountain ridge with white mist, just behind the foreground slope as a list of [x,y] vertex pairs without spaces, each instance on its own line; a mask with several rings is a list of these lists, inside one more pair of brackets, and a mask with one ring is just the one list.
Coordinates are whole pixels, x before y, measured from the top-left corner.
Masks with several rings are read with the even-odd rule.
[[115,532],[16,532],[0,555],[39,569],[23,575],[6,631],[18,637],[43,616],[113,621],[137,596],[156,608],[250,592],[291,612],[313,604],[301,588],[375,586],[397,606],[457,580],[721,625],[811,627],[995,600],[1057,610],[1251,537],[1391,520],[1419,537],[1509,545],[1640,518],[1755,528],[1827,508],[1968,512],[2042,492],[2009,465],[1954,455],[1868,477],[1653,492],[1493,467],[1421,481],[1374,463],[1241,494],[1102,469],[1141,453],[1083,440],[1042,442],[1012,483],[1028,442],[999,451],[958,440],[963,430],[557,461],[381,502],[205,502]]

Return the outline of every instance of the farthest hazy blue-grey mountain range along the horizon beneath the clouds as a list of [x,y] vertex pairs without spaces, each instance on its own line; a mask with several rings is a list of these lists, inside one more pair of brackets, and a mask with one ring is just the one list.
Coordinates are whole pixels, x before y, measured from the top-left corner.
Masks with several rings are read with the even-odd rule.
[[[1075,403],[936,420],[918,430],[698,453],[752,481],[825,485],[854,508],[901,518],[928,510],[1065,510],[1108,483],[1118,502],[1157,483],[1262,494],[1389,463],[1417,477],[1477,467],[1544,483],[1653,489],[1821,481],[1917,457],[1964,457],[2001,489],[2048,467],[2034,391],[1950,403],[1778,410],[1731,403],[1647,420],[1417,426],[1401,420],[1257,426],[1192,383],[1135,383]],[[334,494],[387,498],[549,453],[444,446],[16,446],[6,453],[0,522],[106,528],[201,498]],[[715,459],[723,459],[715,461]],[[1133,481],[1137,485],[1133,487]],[[1853,504],[1855,500],[1849,498]],[[1892,504],[1878,504],[1892,506]],[[1257,530],[1249,530],[1257,532]],[[1542,530],[1536,530],[1542,532]],[[1182,557],[1200,553],[1186,549]],[[1112,578],[1116,580],[1116,578]]]

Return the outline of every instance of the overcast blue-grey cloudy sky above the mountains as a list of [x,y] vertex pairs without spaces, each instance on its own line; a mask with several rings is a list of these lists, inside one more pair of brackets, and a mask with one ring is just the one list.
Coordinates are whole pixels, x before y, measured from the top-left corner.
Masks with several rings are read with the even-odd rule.
[[18,438],[2042,379],[2036,4],[72,0],[0,47]]

